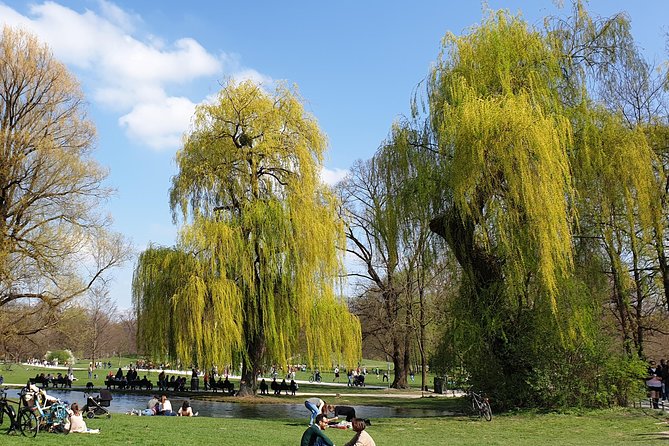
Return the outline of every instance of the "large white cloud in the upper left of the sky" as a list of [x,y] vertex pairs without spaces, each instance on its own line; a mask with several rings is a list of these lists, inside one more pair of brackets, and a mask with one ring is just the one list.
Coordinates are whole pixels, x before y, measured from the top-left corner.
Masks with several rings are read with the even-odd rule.
[[119,125],[135,142],[153,149],[178,147],[195,103],[202,100],[170,94],[179,86],[203,78],[214,85],[225,76],[272,82],[244,67],[238,56],[212,54],[192,38],[138,37],[141,17],[107,0],[97,6],[97,12],[79,12],[46,1],[22,15],[0,4],[0,25],[24,28],[48,43],[58,59],[84,75],[87,93],[99,106],[122,115]]

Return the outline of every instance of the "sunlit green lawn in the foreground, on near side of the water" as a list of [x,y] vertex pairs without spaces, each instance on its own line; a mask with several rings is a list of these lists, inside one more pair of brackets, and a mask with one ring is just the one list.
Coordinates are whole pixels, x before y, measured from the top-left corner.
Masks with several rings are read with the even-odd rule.
[[[39,433],[37,438],[2,434],[0,444],[76,445],[275,445],[294,446],[306,429],[296,420],[237,418],[134,417],[87,420],[97,435]],[[368,428],[379,446],[434,445],[666,445],[667,423],[656,413],[612,409],[576,414],[522,413],[496,416],[492,422],[471,417],[375,419]],[[666,420],[665,420],[666,421]],[[328,429],[337,445],[352,431]]]

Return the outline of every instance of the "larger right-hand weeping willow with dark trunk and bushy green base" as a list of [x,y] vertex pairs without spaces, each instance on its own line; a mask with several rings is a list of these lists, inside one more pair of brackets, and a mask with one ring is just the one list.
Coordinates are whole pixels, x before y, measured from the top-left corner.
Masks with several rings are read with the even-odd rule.
[[[577,21],[592,25],[576,6]],[[647,145],[638,145],[639,132],[618,133],[625,129],[615,115],[602,119],[580,71],[614,57],[599,44],[603,36],[612,36],[607,45],[618,41],[625,22],[584,29],[562,42],[566,34],[491,13],[469,34],[446,36],[428,79],[429,126],[445,178],[431,228],[463,272],[451,336],[467,345],[474,384],[502,405],[551,404],[546,388],[558,388],[569,367],[598,379],[591,358],[602,302],[574,270],[578,211],[611,193],[628,205],[628,229],[654,219]],[[582,45],[566,48],[574,42]],[[618,158],[602,171],[608,156]],[[624,184],[606,189],[614,169],[624,170]]]

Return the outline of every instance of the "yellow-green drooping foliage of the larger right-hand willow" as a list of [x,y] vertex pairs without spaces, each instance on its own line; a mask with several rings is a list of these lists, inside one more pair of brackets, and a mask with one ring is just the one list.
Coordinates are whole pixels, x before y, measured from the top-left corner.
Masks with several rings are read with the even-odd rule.
[[555,309],[557,277],[572,265],[574,195],[571,126],[554,88],[559,59],[504,13],[470,35],[446,36],[444,46],[431,108],[453,205],[508,259],[507,286],[522,290],[537,272]]

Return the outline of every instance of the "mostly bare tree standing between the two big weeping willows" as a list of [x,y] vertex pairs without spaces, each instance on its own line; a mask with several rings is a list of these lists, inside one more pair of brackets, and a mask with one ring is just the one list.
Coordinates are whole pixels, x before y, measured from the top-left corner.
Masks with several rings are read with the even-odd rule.
[[429,153],[416,150],[420,139],[408,126],[394,127],[374,158],[356,163],[340,184],[346,250],[361,265],[350,274],[361,287],[353,306],[363,336],[392,358],[395,388],[408,386],[415,346],[421,368],[427,368],[425,337],[432,318],[425,293],[438,271],[425,199],[433,180],[415,176],[417,166],[431,161]]

